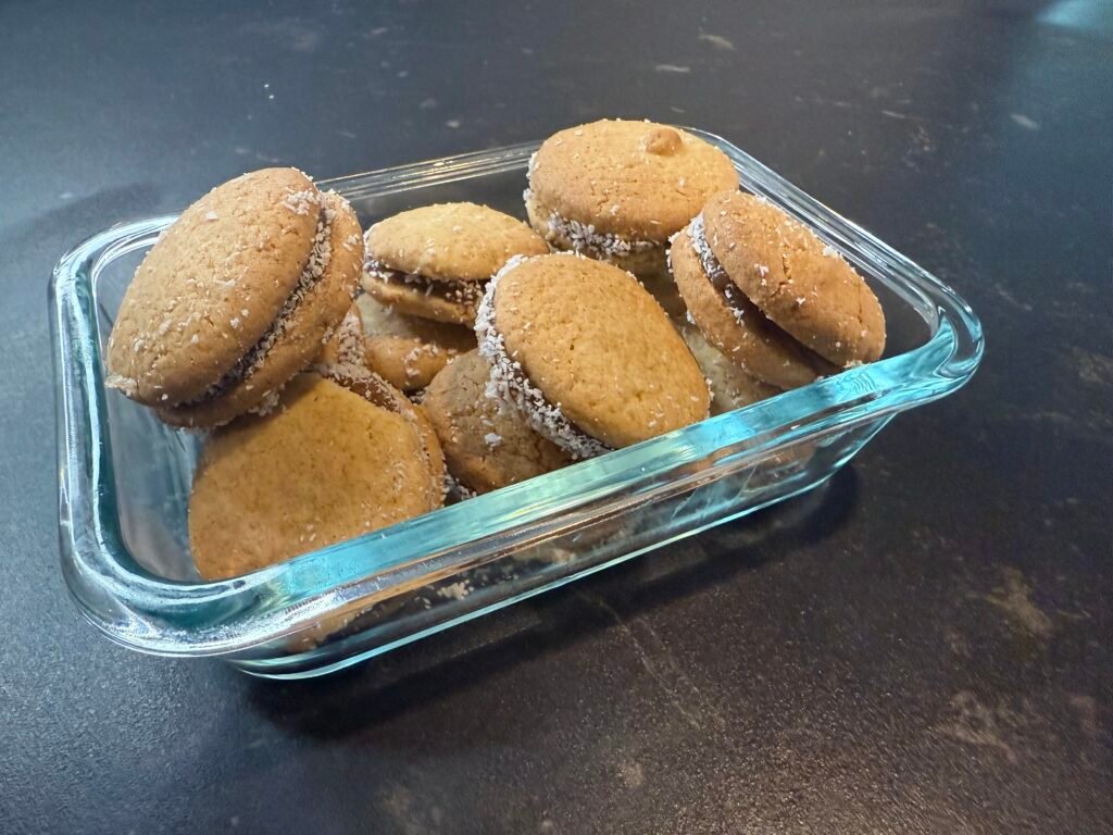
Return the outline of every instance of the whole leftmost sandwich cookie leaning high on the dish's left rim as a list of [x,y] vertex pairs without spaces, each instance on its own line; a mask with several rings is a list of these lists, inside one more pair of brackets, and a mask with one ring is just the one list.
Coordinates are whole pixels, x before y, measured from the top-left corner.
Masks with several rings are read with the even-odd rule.
[[175,425],[272,404],[344,317],[363,261],[352,207],[269,168],[187,208],[136,271],[108,342],[107,385]]

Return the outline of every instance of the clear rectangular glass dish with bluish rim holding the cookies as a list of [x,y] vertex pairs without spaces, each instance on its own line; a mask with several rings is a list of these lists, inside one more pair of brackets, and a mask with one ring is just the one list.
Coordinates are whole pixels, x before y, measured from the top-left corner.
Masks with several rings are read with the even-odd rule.
[[[219,656],[275,678],[335,671],[751,513],[830,478],[895,414],[963,385],[982,328],[949,287],[726,140],[742,187],[810,226],[885,308],[885,357],[677,432],[252,574],[203,582],[186,511],[201,439],[104,386],[136,265],[174,215],[66,255],[50,286],[59,527],[85,616],[131,649]],[[536,143],[322,183],[365,227],[467,199],[523,216]]]

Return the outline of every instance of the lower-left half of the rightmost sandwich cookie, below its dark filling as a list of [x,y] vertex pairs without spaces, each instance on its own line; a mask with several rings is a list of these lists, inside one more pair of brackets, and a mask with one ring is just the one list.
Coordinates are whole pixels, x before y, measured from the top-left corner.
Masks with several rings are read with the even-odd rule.
[[713,263],[715,274],[708,273],[693,245],[693,233],[699,236],[701,229],[697,216],[672,239],[669,266],[690,321],[708,341],[746,373],[780,389],[807,385],[834,371],[766,318]]

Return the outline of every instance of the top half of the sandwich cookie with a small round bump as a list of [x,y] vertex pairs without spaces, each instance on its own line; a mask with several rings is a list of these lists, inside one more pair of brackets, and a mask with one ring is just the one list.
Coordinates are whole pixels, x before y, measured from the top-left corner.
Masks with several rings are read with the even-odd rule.
[[727,156],[687,131],[603,119],[545,139],[530,189],[563,218],[597,233],[663,243],[708,198],[738,186]]

